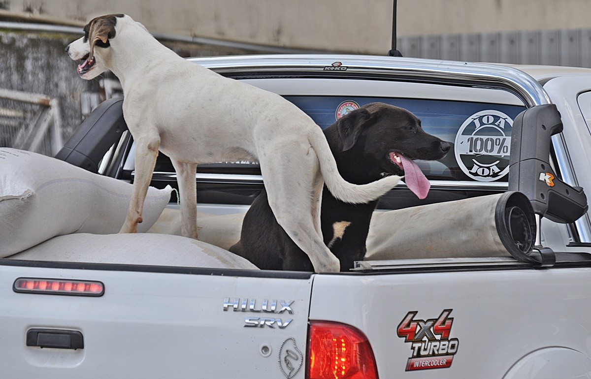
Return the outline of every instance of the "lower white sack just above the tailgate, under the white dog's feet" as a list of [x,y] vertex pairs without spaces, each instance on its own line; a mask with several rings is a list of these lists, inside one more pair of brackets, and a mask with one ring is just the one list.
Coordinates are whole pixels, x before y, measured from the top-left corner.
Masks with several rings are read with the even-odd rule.
[[167,234],[69,234],[8,259],[257,270],[228,250]]

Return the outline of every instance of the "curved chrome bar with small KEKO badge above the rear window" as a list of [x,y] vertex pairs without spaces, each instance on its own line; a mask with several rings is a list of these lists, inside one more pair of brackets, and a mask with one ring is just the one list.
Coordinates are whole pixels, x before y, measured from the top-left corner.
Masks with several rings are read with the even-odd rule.
[[[218,73],[279,73],[281,71],[320,73],[326,71],[325,68],[330,68],[332,63],[340,62],[340,67],[346,67],[346,70],[328,70],[347,76],[355,73],[379,73],[404,80],[445,81],[455,85],[482,85],[489,88],[497,86],[515,93],[528,107],[550,103],[550,97],[532,76],[515,67],[490,63],[346,54],[234,55],[189,58],[189,61]],[[491,83],[494,83],[493,86]]]

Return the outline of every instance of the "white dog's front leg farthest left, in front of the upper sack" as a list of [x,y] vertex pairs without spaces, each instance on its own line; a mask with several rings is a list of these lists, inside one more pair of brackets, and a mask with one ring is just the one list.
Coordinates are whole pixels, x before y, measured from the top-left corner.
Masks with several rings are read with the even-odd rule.
[[134,191],[129,202],[125,223],[119,233],[136,233],[142,222],[144,200],[156,165],[160,137],[143,138],[135,141],[135,178]]

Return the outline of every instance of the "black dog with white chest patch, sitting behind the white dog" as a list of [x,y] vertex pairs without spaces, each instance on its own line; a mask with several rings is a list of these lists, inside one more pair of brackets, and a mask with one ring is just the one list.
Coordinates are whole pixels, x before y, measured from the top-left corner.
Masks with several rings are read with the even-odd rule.
[[[405,184],[420,198],[427,196],[429,183],[412,159],[441,159],[450,149],[449,143],[424,132],[413,113],[384,103],[350,112],[325,129],[324,135],[347,181],[365,184],[386,174],[405,175]],[[377,203],[342,202],[324,186],[322,234],[342,271],[365,256],[369,221]],[[246,213],[241,239],[230,251],[259,269],[313,271],[310,259],[275,220],[264,190]]]

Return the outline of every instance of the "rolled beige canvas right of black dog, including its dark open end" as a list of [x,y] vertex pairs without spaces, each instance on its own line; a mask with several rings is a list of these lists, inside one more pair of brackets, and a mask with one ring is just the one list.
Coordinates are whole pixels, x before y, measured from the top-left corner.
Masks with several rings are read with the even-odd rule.
[[535,216],[521,192],[376,212],[365,260],[507,257],[527,261]]

